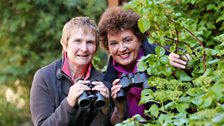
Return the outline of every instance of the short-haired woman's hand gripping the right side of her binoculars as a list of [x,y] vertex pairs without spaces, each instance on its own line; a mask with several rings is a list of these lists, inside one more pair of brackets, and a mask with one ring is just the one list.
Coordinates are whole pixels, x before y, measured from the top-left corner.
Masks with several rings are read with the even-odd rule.
[[110,112],[110,92],[109,89],[100,81],[93,81],[93,85],[95,85],[92,90],[99,91],[100,94],[105,98],[106,104],[102,108],[103,114],[107,115]]

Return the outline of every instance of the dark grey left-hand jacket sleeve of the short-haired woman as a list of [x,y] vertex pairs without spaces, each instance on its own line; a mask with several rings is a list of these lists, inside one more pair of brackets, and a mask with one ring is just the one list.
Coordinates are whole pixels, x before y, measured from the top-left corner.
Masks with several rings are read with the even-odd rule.
[[55,97],[52,95],[53,89],[47,84],[46,78],[48,78],[46,74],[44,75],[44,72],[39,70],[33,79],[30,92],[30,110],[34,125],[68,125],[70,115],[76,113],[77,109],[70,107],[66,98],[56,108]]

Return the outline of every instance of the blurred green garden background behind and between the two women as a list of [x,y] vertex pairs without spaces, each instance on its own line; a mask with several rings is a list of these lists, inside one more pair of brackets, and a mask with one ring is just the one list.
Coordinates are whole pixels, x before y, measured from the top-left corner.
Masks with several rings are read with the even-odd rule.
[[[98,20],[124,0],[0,0],[0,126],[32,126],[29,93],[37,69],[61,57],[65,22],[76,16]],[[94,65],[105,70],[107,54]]]

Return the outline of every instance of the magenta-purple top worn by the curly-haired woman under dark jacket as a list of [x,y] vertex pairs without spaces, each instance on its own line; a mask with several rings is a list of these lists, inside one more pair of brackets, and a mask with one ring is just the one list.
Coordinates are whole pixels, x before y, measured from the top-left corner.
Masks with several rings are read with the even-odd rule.
[[[118,76],[120,77],[122,73],[136,73],[137,72],[137,64],[140,60],[140,58],[144,56],[144,52],[141,49],[139,54],[138,54],[138,58],[137,58],[137,62],[135,64],[135,67],[132,71],[128,71],[126,69],[124,69],[120,64],[116,63],[113,60],[113,67],[118,71]],[[127,100],[128,100],[128,117],[132,117],[135,114],[140,114],[142,117],[145,118],[144,115],[144,109],[145,106],[144,105],[138,105],[139,101],[141,99],[141,92],[142,92],[142,88],[138,88],[138,87],[132,87],[130,89],[130,91],[127,94]]]

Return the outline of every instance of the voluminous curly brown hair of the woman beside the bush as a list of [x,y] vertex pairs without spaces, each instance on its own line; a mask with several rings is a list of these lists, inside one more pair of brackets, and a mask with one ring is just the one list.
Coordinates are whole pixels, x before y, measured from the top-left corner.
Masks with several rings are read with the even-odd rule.
[[101,16],[98,27],[100,43],[108,50],[107,33],[118,33],[124,30],[132,30],[134,35],[141,41],[144,34],[138,28],[140,16],[132,10],[124,10],[120,6],[108,8]]

